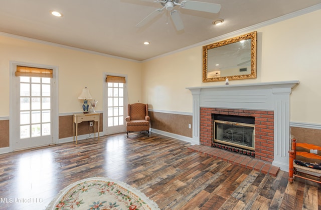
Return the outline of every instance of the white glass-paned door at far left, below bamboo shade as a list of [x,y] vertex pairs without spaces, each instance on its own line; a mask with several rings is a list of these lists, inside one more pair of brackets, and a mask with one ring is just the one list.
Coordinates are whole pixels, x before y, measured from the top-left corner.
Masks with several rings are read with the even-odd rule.
[[53,141],[52,78],[14,76],[13,149]]

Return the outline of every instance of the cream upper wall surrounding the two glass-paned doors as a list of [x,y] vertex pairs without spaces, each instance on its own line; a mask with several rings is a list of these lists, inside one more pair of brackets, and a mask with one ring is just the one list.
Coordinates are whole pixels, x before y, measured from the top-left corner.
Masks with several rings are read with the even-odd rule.
[[87,86],[103,109],[104,72],[126,74],[129,102],[141,99],[141,63],[59,46],[23,40],[0,34],[0,117],[9,116],[10,61],[58,66],[59,113],[80,112],[77,97]]

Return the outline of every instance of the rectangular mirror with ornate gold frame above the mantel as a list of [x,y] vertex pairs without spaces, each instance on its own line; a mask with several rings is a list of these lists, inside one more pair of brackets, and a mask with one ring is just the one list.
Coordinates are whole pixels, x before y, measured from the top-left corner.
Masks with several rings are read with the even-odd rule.
[[203,82],[256,78],[256,31],[203,46]]

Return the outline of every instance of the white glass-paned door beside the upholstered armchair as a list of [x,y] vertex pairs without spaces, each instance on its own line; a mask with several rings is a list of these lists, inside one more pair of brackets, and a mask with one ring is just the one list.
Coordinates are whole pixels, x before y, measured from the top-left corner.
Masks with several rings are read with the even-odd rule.
[[107,113],[104,121],[104,132],[106,134],[118,133],[125,131],[125,111],[127,105],[126,83],[122,82],[106,82],[107,95],[105,95],[105,113]]

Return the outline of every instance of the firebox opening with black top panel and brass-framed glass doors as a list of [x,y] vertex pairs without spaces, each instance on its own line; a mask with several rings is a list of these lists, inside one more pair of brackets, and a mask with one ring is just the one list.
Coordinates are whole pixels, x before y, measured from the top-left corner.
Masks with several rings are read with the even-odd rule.
[[213,114],[213,120],[214,142],[254,151],[254,117]]

